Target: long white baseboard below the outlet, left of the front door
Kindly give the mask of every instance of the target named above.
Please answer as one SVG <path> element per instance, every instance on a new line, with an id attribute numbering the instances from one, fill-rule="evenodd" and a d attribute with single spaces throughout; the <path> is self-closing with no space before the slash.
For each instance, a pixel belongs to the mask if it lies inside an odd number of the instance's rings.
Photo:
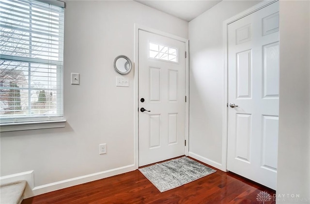
<path id="1" fill-rule="evenodd" d="M 90 175 L 83 175 L 83 176 L 70 178 L 70 179 L 63 180 L 63 181 L 58 181 L 55 183 L 37 186 L 34 189 L 32 189 L 32 196 L 40 195 L 40 194 L 51 192 L 54 190 L 76 186 L 76 185 L 83 184 L 83 183 L 88 183 L 88 182 L 99 180 L 102 178 L 107 178 L 113 175 L 124 174 L 126 172 L 131 172 L 136 169 L 137 167 L 135 166 L 135 164 L 131 164 L 131 165 L 127 165 L 127 166 L 123 166 L 123 167 L 119 167 L 115 169 L 110 169 L 110 170 L 103 171 L 103 172 L 98 172 L 98 173 L 94 173 Z"/>

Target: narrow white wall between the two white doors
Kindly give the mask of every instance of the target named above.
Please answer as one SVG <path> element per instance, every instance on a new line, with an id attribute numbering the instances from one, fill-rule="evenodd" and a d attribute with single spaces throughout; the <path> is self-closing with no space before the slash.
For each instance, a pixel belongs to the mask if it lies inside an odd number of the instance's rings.
<path id="1" fill-rule="evenodd" d="M 221 1 L 189 22 L 189 155 L 222 170 L 223 21 L 258 2 Z"/>

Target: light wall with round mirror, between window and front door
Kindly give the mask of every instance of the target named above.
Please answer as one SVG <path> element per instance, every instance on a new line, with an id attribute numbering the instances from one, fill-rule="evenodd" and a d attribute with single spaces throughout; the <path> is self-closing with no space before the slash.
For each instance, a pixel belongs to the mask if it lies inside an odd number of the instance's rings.
<path id="1" fill-rule="evenodd" d="M 118 55 L 134 59 L 134 23 L 188 38 L 186 21 L 135 1 L 67 1 L 66 127 L 2 132 L 1 176 L 34 170 L 39 194 L 135 169 L 135 71 L 126 75 L 130 87 L 116 87 L 113 68 Z M 80 73 L 79 86 L 70 85 L 70 73 Z M 106 155 L 98 154 L 101 143 Z"/>

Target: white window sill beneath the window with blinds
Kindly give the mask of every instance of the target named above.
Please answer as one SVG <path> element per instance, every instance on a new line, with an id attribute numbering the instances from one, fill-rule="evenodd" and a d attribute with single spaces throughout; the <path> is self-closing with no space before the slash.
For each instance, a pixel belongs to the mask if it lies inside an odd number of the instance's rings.
<path id="1" fill-rule="evenodd" d="M 4 123 L 0 125 L 0 132 L 7 131 L 26 131 L 47 128 L 64 128 L 66 120 L 51 120 L 51 121 L 35 121 L 35 122 L 19 122 L 19 123 Z"/>

